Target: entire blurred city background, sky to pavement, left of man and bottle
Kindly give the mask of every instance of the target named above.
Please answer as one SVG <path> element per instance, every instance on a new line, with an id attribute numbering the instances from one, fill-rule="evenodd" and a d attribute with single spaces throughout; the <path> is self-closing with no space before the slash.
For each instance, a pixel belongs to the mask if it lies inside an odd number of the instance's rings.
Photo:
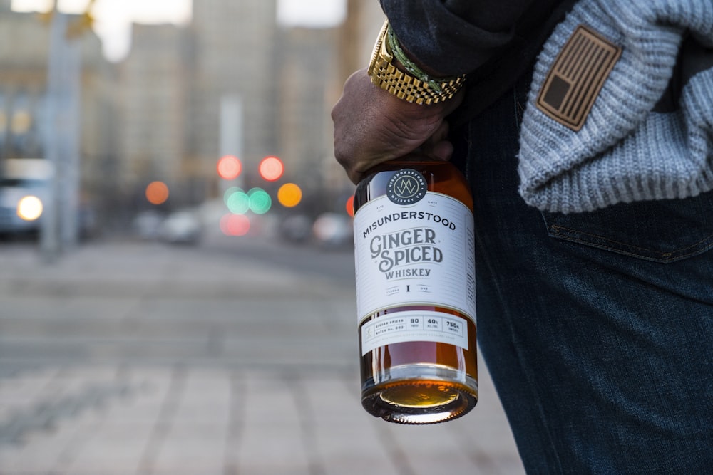
<path id="1" fill-rule="evenodd" d="M 462 419 L 361 408 L 329 111 L 383 23 L 0 0 L 0 475 L 523 474 L 482 361 Z"/>

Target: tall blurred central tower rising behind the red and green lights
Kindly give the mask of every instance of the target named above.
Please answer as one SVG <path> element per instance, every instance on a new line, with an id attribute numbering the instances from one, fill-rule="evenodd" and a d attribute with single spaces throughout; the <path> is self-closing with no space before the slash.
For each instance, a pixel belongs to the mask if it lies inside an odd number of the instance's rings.
<path id="1" fill-rule="evenodd" d="M 274 0 L 193 1 L 187 152 L 208 194 L 220 155 L 250 174 L 278 153 L 275 15 Z"/>

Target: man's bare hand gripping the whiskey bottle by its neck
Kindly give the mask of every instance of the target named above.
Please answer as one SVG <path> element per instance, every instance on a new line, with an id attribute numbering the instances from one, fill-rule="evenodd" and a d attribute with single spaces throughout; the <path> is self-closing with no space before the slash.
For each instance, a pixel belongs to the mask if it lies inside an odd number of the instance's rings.
<path id="1" fill-rule="evenodd" d="M 355 184 L 375 165 L 415 150 L 445 162 L 453 153 L 445 118 L 462 100 L 461 93 L 434 105 L 408 103 L 372 84 L 366 69 L 356 71 L 332 109 L 334 156 Z"/>

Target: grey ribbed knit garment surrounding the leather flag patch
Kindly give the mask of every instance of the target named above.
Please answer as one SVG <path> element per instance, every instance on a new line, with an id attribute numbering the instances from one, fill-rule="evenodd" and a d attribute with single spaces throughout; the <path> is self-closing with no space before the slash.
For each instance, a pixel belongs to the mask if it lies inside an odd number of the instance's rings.
<path id="1" fill-rule="evenodd" d="M 575 130 L 546 113 L 538 98 L 580 25 L 618 46 L 620 56 Z M 688 34 L 704 57 L 713 58 L 713 0 L 578 2 L 535 67 L 520 132 L 525 202 L 572 213 L 713 189 L 713 61 L 687 80 L 676 110 L 653 112 L 680 66 L 677 56 Z M 556 80 L 561 90 L 574 90 Z"/>

